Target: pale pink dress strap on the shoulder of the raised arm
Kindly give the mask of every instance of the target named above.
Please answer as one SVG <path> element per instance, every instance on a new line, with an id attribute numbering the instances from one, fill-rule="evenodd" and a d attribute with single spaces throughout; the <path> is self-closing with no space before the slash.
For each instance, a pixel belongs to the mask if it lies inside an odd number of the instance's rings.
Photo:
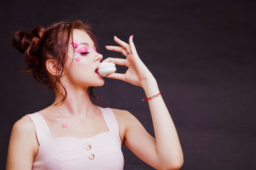
<path id="1" fill-rule="evenodd" d="M 100 108 L 100 111 L 102 112 L 102 115 L 104 117 L 106 125 L 108 126 L 109 131 L 119 136 L 118 122 L 111 108 L 101 108 L 101 107 L 99 108 Z"/>

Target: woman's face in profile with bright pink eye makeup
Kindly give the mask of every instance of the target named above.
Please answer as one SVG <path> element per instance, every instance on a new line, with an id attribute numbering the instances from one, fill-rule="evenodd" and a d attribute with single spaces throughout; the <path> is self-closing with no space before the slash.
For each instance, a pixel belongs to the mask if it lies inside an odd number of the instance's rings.
<path id="1" fill-rule="evenodd" d="M 97 53 L 92 39 L 81 29 L 73 30 L 73 38 L 72 43 L 70 36 L 64 76 L 69 83 L 81 87 L 104 85 L 103 77 L 95 72 L 100 60 L 102 60 L 102 55 Z"/>

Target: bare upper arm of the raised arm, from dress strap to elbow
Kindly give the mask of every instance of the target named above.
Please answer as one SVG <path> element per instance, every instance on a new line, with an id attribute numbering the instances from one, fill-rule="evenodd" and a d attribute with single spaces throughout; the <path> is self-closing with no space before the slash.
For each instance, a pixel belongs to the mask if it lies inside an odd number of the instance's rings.
<path id="1" fill-rule="evenodd" d="M 148 165 L 158 169 L 159 159 L 156 153 L 156 139 L 148 134 L 140 121 L 129 111 L 123 111 L 125 117 L 124 145 L 134 155 Z"/>

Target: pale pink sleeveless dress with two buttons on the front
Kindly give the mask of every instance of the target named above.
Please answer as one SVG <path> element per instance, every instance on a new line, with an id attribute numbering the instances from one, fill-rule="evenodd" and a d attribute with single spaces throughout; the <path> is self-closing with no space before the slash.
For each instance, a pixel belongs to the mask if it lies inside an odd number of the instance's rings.
<path id="1" fill-rule="evenodd" d="M 44 117 L 39 113 L 28 114 L 35 124 L 38 153 L 32 169 L 124 169 L 119 127 L 111 108 L 100 108 L 109 131 L 91 138 L 52 138 Z"/>

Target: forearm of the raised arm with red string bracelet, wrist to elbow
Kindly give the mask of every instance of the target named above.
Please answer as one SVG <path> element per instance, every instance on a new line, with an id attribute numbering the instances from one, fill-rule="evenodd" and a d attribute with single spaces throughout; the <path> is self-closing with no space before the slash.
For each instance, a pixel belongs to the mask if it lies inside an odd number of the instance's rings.
<path id="1" fill-rule="evenodd" d="M 155 78 L 150 78 L 144 82 L 142 88 L 147 98 L 160 92 Z M 156 152 L 159 160 L 163 161 L 165 165 L 171 164 L 170 166 L 173 167 L 182 166 L 183 153 L 179 137 L 170 113 L 164 104 L 163 97 L 159 95 L 149 99 L 148 105 L 154 125 Z"/>

